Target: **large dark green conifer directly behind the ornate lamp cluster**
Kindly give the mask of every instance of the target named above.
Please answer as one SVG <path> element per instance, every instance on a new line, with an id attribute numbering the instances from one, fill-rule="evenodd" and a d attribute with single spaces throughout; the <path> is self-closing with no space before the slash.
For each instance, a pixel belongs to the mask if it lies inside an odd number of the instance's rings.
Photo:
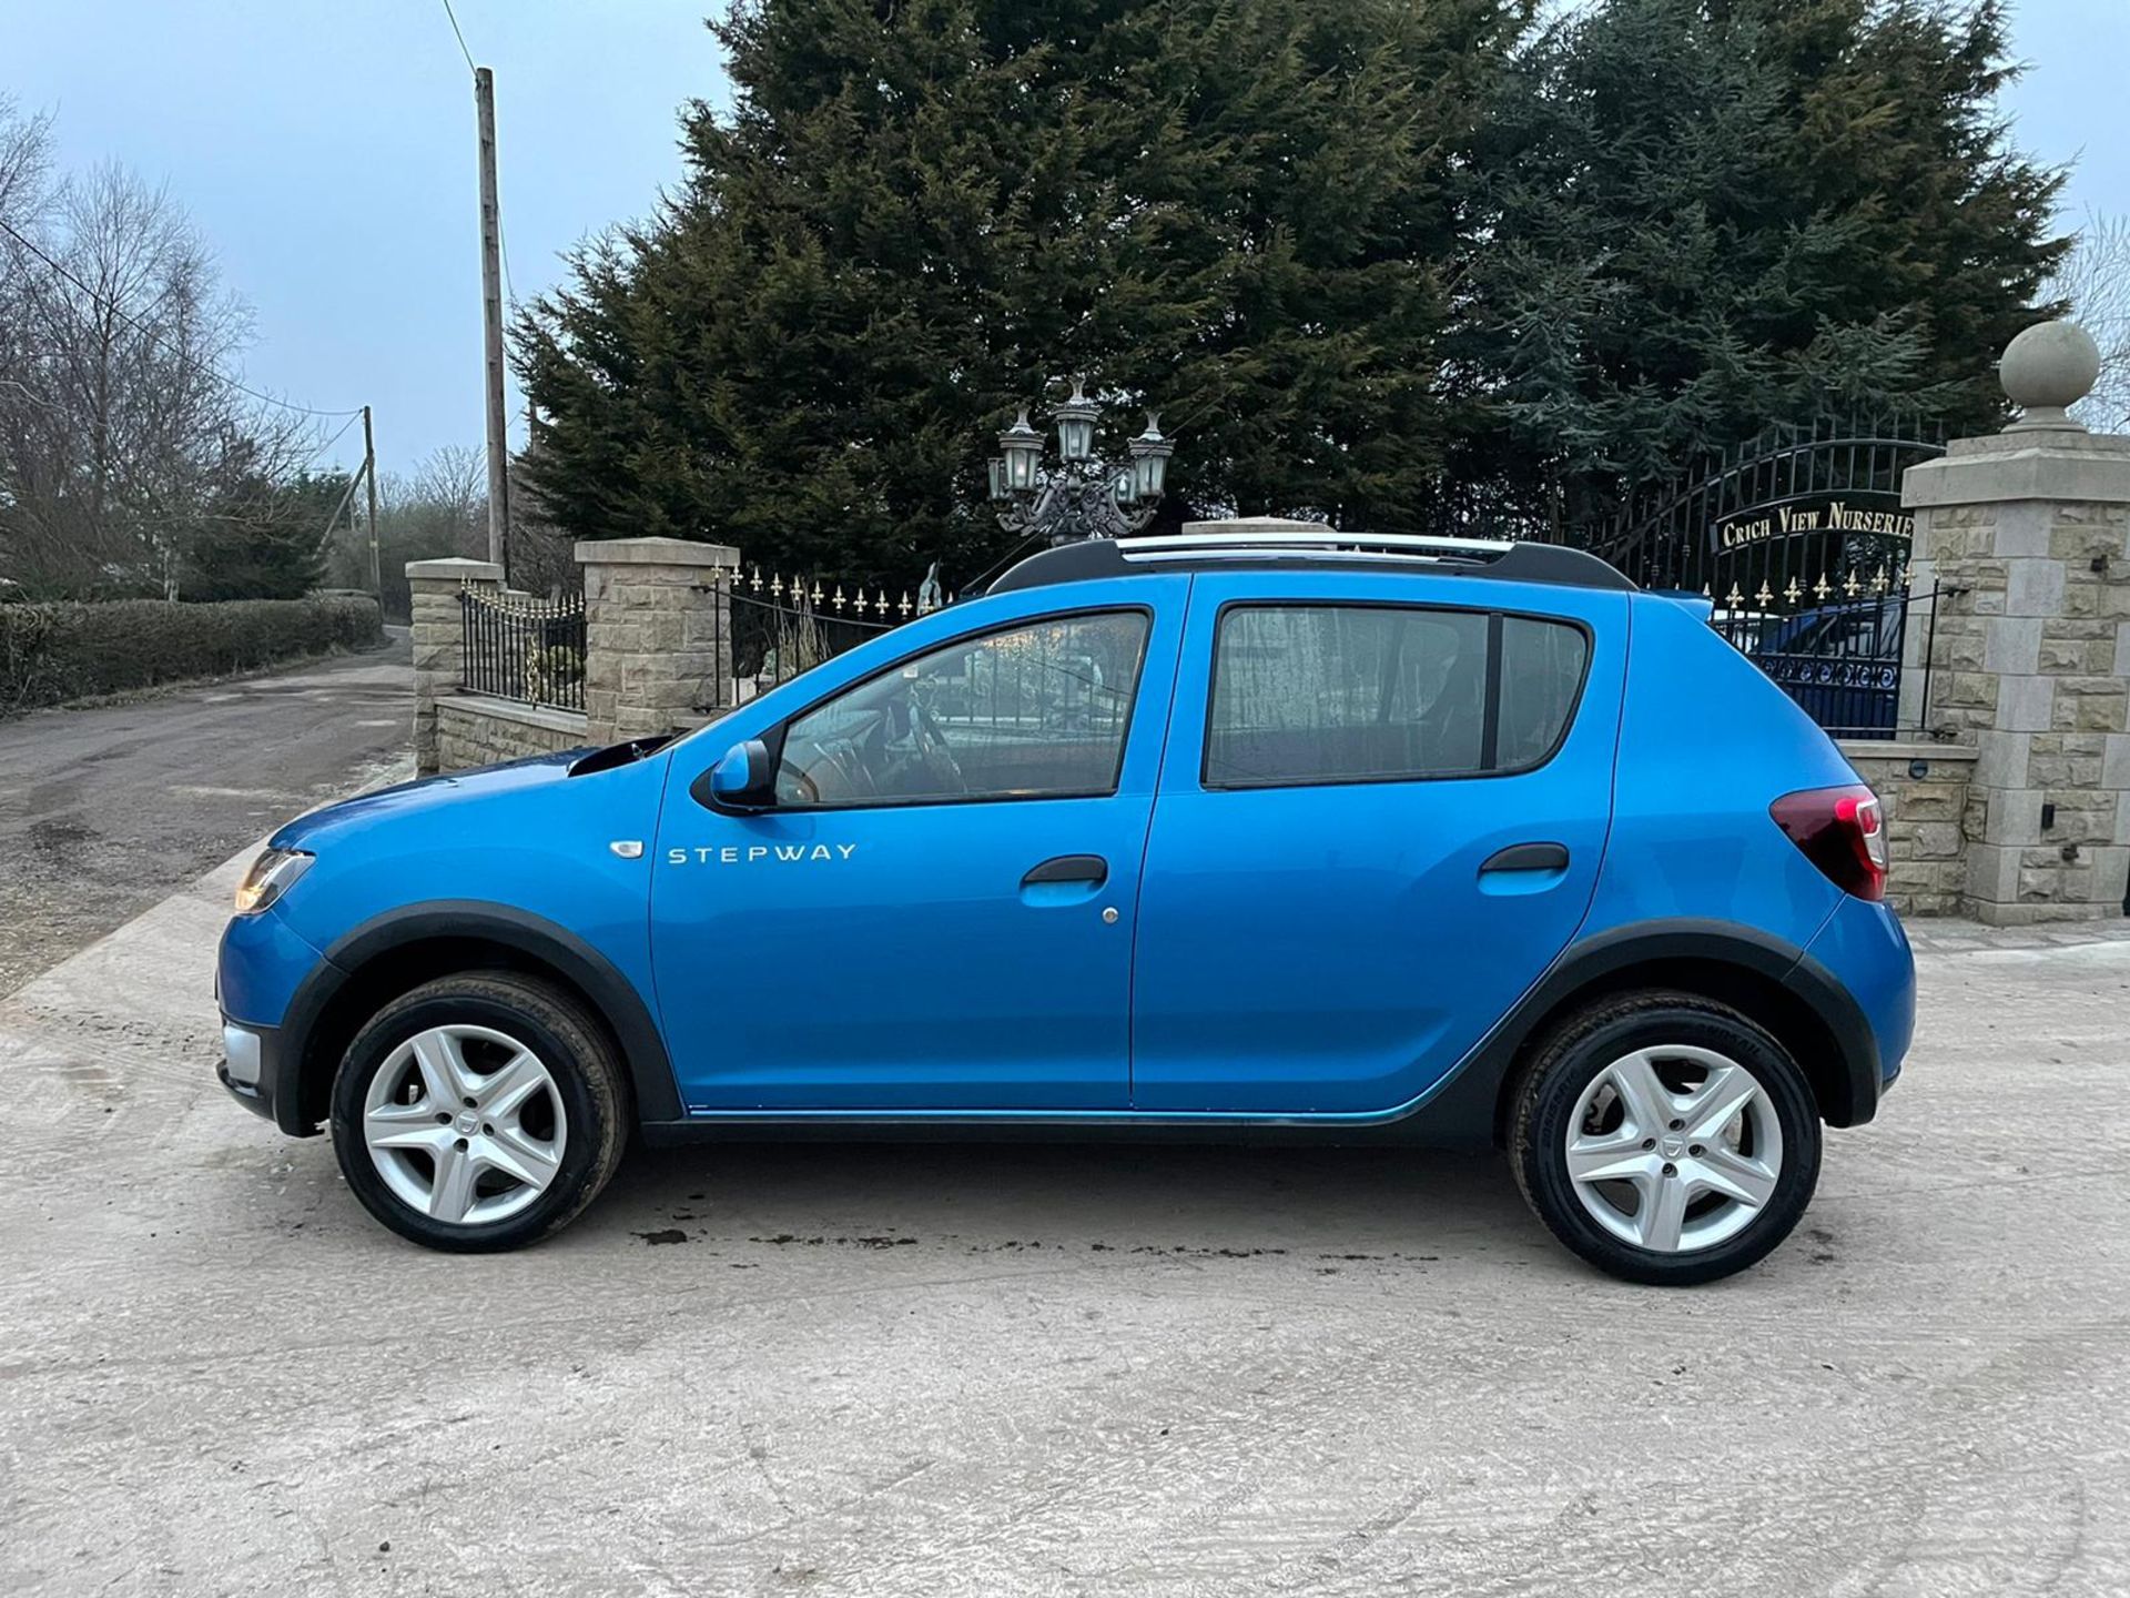
<path id="1" fill-rule="evenodd" d="M 1069 375 L 1159 405 L 1193 503 L 1389 526 L 1425 496 L 1463 153 L 1521 0 L 714 26 L 735 113 L 692 107 L 682 192 L 518 326 L 562 524 L 967 575 L 999 537 L 988 433 Z"/>

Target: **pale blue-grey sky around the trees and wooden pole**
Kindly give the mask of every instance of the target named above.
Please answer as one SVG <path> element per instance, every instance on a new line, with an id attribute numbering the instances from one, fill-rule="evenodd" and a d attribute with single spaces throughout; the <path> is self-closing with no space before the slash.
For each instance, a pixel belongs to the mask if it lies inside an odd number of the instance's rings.
<path id="1" fill-rule="evenodd" d="M 452 4 L 496 72 L 509 279 L 530 298 L 679 177 L 686 100 L 728 104 L 709 6 Z M 2015 0 L 2013 47 L 2017 143 L 2075 164 L 2064 219 L 2130 213 L 2130 0 Z M 245 381 L 375 407 L 381 471 L 481 443 L 473 77 L 443 0 L 0 0 L 0 94 L 55 113 L 62 170 L 117 160 L 185 205 L 251 305 Z M 511 415 L 522 441 L 515 386 Z M 320 462 L 360 456 L 351 428 Z"/>

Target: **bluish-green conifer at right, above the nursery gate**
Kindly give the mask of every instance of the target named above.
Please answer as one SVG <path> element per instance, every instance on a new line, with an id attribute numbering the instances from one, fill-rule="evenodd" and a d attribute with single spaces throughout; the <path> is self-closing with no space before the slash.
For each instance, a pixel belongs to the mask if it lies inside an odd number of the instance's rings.
<path id="1" fill-rule="evenodd" d="M 1606 0 L 1519 53 L 1472 347 L 1568 513 L 1817 411 L 1992 426 L 2062 245 L 1996 0 Z"/>

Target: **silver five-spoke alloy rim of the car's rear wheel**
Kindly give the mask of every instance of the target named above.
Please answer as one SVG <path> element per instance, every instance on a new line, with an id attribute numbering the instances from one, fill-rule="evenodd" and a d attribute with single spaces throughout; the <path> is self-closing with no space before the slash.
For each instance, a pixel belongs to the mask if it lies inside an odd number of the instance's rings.
<path id="1" fill-rule="evenodd" d="M 1768 1089 L 1713 1048 L 1638 1048 L 1583 1089 L 1568 1178 L 1598 1225 L 1661 1255 L 1713 1249 L 1774 1197 L 1783 1127 Z"/>

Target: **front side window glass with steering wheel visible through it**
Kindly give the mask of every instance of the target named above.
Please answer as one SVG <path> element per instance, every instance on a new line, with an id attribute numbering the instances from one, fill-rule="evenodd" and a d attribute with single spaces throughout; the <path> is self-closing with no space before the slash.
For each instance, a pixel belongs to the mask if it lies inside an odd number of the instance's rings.
<path id="1" fill-rule="evenodd" d="M 869 678 L 790 724 L 777 803 L 1114 793 L 1146 629 L 1135 609 L 1059 616 Z"/>

